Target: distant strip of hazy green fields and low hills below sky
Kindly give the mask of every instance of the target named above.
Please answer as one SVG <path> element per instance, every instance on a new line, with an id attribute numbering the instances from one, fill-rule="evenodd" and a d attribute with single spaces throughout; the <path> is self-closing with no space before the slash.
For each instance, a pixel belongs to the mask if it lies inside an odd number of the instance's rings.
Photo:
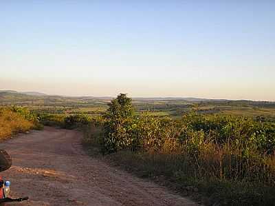
<path id="1" fill-rule="evenodd" d="M 0 90 L 0 106 L 18 105 L 34 112 L 50 114 L 100 115 L 108 108 L 112 97 L 52 96 L 39 92 L 16 92 Z M 275 121 L 275 102 L 231 101 L 225 99 L 196 98 L 133 98 L 137 115 L 148 112 L 153 116 L 180 118 L 184 113 L 196 109 L 203 114 L 232 114 Z"/>

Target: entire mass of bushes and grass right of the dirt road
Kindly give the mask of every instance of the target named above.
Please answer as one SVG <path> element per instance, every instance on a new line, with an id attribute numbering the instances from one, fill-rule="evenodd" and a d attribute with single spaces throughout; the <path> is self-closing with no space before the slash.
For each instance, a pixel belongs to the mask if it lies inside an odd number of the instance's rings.
<path id="1" fill-rule="evenodd" d="M 109 103 L 103 117 L 97 142 L 126 167 L 195 185 L 220 205 L 274 203 L 274 123 L 196 111 L 181 119 L 135 116 L 125 94 Z"/>

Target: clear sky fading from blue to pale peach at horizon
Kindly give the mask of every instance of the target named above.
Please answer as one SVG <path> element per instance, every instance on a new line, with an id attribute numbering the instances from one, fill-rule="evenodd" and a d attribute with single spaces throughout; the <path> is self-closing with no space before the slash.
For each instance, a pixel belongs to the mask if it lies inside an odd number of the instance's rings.
<path id="1" fill-rule="evenodd" d="M 0 90 L 275 101 L 275 1 L 0 1 Z"/>

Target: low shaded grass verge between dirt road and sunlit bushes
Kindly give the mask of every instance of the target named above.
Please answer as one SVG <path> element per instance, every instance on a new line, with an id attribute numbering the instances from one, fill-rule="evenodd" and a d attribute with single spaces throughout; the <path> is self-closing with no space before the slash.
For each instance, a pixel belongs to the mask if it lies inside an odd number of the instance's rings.
<path id="1" fill-rule="evenodd" d="M 192 171 L 192 162 L 179 154 L 119 151 L 102 156 L 101 127 L 85 129 L 83 145 L 91 156 L 100 156 L 107 163 L 120 167 L 141 178 L 164 185 L 182 196 L 204 205 L 274 205 L 275 188 L 217 178 L 199 178 Z"/>

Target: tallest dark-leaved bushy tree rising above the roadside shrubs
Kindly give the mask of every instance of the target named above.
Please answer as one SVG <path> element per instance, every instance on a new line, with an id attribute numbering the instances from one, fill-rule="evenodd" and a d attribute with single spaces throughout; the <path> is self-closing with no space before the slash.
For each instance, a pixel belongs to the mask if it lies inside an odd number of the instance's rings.
<path id="1" fill-rule="evenodd" d="M 133 142 L 131 137 L 132 100 L 126 94 L 120 94 L 108 105 L 109 109 L 104 116 L 103 153 L 127 149 L 131 147 Z"/>

